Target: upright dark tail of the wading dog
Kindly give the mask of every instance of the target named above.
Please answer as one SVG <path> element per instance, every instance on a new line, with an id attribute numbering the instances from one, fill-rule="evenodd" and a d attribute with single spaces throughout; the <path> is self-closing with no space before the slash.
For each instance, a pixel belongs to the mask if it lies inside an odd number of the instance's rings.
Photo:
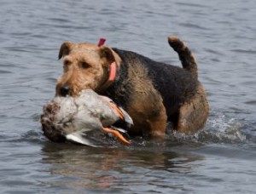
<path id="1" fill-rule="evenodd" d="M 183 69 L 189 71 L 197 79 L 197 64 L 195 57 L 189 48 L 178 37 L 168 37 L 168 43 L 177 52 L 179 60 L 182 62 Z"/>

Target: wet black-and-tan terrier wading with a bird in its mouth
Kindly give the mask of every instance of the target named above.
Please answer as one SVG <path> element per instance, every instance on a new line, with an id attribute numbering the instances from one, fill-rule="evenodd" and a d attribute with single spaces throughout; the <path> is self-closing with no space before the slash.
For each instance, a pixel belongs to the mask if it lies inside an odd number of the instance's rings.
<path id="1" fill-rule="evenodd" d="M 207 94 L 189 48 L 174 36 L 168 37 L 168 43 L 183 68 L 118 48 L 63 43 L 59 59 L 64 74 L 56 84 L 56 95 L 75 96 L 84 88 L 107 95 L 132 117 L 130 134 L 163 137 L 167 122 L 178 132 L 196 132 L 207 121 Z"/>

